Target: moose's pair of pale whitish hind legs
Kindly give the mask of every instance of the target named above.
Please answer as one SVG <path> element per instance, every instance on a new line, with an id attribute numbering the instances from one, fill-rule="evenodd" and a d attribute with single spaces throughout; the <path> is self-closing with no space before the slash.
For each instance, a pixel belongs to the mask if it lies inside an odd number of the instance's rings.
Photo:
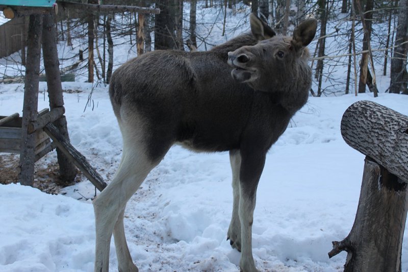
<path id="1" fill-rule="evenodd" d="M 108 272 L 112 233 L 115 235 L 119 271 L 137 271 L 125 243 L 123 211 L 127 201 L 156 163 L 149 160 L 143 144 L 126 141 L 119 168 L 111 183 L 93 201 L 96 226 L 95 271 Z M 163 155 L 164 156 L 164 155 Z"/>

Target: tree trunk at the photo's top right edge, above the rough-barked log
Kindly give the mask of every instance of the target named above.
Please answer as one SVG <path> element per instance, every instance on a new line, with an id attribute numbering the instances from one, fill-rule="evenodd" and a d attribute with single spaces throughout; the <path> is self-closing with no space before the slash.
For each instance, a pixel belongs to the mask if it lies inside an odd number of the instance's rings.
<path id="1" fill-rule="evenodd" d="M 408 0 L 399 1 L 398 26 L 394 42 L 394 55 L 391 59 L 391 81 L 390 93 L 406 92 L 406 81 L 404 81 L 404 71 L 406 67 L 406 45 L 408 31 Z M 405 43 L 405 44 L 403 44 Z"/>

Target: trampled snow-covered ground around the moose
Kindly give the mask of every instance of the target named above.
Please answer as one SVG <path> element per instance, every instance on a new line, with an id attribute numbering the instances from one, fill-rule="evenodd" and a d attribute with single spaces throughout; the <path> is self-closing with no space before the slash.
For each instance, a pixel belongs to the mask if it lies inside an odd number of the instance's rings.
<path id="1" fill-rule="evenodd" d="M 94 89 L 93 109 L 86 107 L 90 84 L 63 88 L 82 91 L 64 93 L 71 142 L 109 182 L 122 140 L 107 88 Z M 43 96 L 39 109 L 48 104 Z M 364 156 L 340 135 L 344 110 L 358 100 L 408 115 L 406 95 L 310 97 L 272 146 L 253 224 L 253 254 L 262 271 L 342 270 L 346 254 L 328 259 L 327 253 L 331 241 L 350 231 L 359 200 Z M 19 111 L 22 101 L 22 85 L 0 85 L 0 115 Z M 39 163 L 55 160 L 53 152 Z M 0 185 L 0 271 L 92 271 L 94 187 L 84 179 L 63 192 Z M 135 263 L 140 271 L 238 271 L 240 253 L 226 241 L 231 211 L 228 154 L 174 146 L 127 205 L 125 230 Z M 407 250 L 405 237 L 404 271 Z M 110 261 L 116 271 L 113 242 Z"/>

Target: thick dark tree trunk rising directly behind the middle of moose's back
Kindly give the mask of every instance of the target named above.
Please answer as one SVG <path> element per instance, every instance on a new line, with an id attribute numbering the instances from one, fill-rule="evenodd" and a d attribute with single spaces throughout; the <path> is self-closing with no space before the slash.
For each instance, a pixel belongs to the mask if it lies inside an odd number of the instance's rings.
<path id="1" fill-rule="evenodd" d="M 156 8 L 160 14 L 155 16 L 155 50 L 175 48 L 174 38 L 174 5 L 173 0 L 159 0 Z"/>

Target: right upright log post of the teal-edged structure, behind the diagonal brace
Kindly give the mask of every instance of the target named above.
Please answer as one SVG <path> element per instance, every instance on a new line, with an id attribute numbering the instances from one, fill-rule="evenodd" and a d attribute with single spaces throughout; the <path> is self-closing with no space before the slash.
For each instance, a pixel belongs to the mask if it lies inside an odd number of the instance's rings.
<path id="1" fill-rule="evenodd" d="M 64 98 L 62 94 L 60 62 L 57 53 L 57 31 L 54 24 L 54 15 L 43 15 L 43 31 L 42 31 L 42 52 L 44 56 L 44 68 L 47 78 L 47 90 L 49 97 L 49 108 L 51 112 L 57 109 L 63 109 Z M 57 115 L 63 114 L 58 112 Z M 69 141 L 67 121 L 65 116 L 54 121 L 54 125 L 59 129 L 65 139 Z M 60 181 L 63 184 L 70 184 L 77 176 L 77 169 L 73 163 L 57 149 L 58 164 L 60 166 Z"/>

